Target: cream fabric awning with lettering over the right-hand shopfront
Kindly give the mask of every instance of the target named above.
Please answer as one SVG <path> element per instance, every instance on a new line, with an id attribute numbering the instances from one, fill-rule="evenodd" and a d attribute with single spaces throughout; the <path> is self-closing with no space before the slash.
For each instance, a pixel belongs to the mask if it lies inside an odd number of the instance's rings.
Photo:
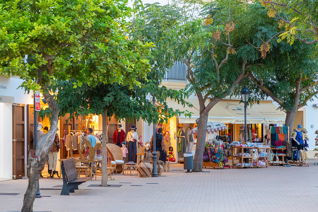
<path id="1" fill-rule="evenodd" d="M 174 110 L 188 110 L 193 113 L 191 114 L 191 118 L 183 115 L 179 116 L 179 123 L 196 123 L 196 119 L 200 117 L 199 102 L 196 98 L 189 98 L 186 101 L 193 104 L 193 107 L 183 107 L 178 102 L 170 99 L 167 99 L 167 104 Z M 244 104 L 239 102 L 239 100 L 221 100 L 210 110 L 208 121 L 244 124 Z M 252 105 L 252 108 L 251 106 L 247 106 L 246 117 L 247 124 L 284 124 L 286 113 L 277 110 L 277 107 L 271 101 L 259 101 L 259 104 Z"/>

